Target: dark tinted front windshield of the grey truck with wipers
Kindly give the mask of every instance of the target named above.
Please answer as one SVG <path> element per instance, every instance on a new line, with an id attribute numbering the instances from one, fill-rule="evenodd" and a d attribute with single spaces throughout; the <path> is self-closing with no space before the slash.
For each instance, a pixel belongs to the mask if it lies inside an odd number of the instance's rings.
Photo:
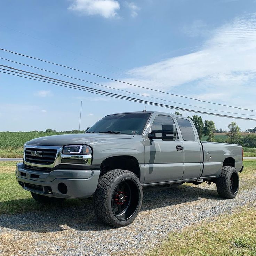
<path id="1" fill-rule="evenodd" d="M 99 120 L 86 133 L 142 134 L 150 113 L 127 113 L 107 115 Z"/>

